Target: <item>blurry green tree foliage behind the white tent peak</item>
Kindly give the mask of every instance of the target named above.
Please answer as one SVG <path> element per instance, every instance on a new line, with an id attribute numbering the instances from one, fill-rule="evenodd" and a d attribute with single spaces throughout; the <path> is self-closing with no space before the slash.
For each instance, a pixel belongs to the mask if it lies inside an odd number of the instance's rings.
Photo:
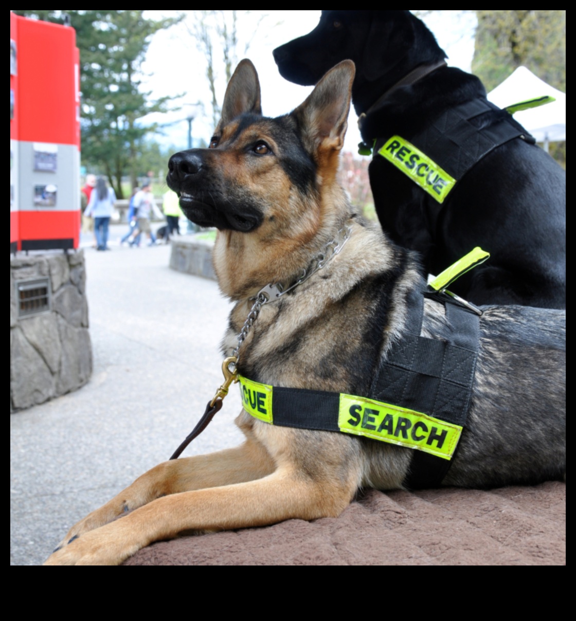
<path id="1" fill-rule="evenodd" d="M 519 66 L 566 92 L 566 11 L 476 11 L 478 28 L 472 73 L 487 91 Z M 551 155 L 566 167 L 566 143 Z"/>

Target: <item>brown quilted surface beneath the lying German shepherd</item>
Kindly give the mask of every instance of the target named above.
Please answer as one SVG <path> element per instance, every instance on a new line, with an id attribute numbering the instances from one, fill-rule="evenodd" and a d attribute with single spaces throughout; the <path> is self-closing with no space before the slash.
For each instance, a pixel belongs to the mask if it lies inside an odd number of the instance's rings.
<path id="1" fill-rule="evenodd" d="M 126 565 L 564 565 L 566 485 L 367 490 L 336 519 L 158 542 Z"/>

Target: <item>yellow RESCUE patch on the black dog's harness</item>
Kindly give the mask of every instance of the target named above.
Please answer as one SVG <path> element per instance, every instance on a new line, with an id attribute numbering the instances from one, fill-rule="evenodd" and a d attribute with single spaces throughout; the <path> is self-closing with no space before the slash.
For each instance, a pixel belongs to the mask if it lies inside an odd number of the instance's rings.
<path id="1" fill-rule="evenodd" d="M 378 151 L 438 202 L 444 202 L 456 179 L 408 140 L 393 136 Z"/>

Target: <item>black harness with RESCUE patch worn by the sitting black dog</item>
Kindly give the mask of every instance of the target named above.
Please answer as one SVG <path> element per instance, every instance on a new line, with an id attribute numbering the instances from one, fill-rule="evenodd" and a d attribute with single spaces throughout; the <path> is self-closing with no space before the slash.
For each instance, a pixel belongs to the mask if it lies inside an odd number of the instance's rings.
<path id="1" fill-rule="evenodd" d="M 547 101 L 534 100 L 531 105 L 524 102 L 524 107 L 544 102 Z M 496 122 L 488 127 L 478 127 L 475 119 L 487 112 L 497 112 Z M 374 155 L 378 154 L 388 160 L 437 202 L 442 203 L 455 184 L 478 161 L 514 138 L 521 138 L 531 144 L 536 142 L 514 120 L 508 109 L 502 110 L 485 97 L 478 97 L 447 109 L 419 134 L 377 138 Z"/>

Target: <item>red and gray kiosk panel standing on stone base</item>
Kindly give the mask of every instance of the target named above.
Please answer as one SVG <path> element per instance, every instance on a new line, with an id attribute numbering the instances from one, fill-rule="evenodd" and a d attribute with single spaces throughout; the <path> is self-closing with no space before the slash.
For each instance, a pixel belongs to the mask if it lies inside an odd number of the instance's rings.
<path id="1" fill-rule="evenodd" d="M 10 251 L 78 248 L 76 32 L 10 14 Z"/>

